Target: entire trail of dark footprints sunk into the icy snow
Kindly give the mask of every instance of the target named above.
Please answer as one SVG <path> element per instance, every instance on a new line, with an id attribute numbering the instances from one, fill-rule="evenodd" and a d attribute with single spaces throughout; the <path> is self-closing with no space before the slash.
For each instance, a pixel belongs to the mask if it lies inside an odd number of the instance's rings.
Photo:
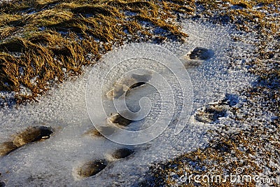
<path id="1" fill-rule="evenodd" d="M 205 48 L 195 48 L 193 52 L 190 53 L 188 56 L 190 60 L 208 60 L 213 55 L 214 54 L 211 52 L 211 50 L 207 50 Z M 122 83 L 116 83 L 114 89 L 106 93 L 106 97 L 110 100 L 118 99 L 123 95 L 129 94 L 130 90 L 145 85 L 149 80 L 151 80 L 151 78 L 152 78 L 151 74 L 143 74 L 143 75 L 132 74 L 130 78 L 123 81 Z M 214 118 L 216 119 L 215 116 L 213 117 L 213 119 L 210 118 L 210 121 L 214 120 Z M 203 122 L 209 122 L 208 121 L 209 118 L 206 118 L 205 120 L 200 113 L 197 113 L 196 119 Z M 113 113 L 107 119 L 107 122 L 108 122 L 107 126 L 102 126 L 99 128 L 99 130 L 90 129 L 87 132 L 85 132 L 85 134 L 83 135 L 92 138 L 101 138 L 103 137 L 102 134 L 106 136 L 116 132 L 117 128 L 113 125 L 117 125 L 118 127 L 125 128 L 127 127 L 127 125 L 133 123 L 133 120 L 124 118 L 119 113 Z M 113 123 L 113 125 L 110 125 L 110 123 Z M 43 125 L 27 127 L 26 130 L 14 134 L 10 141 L 6 141 L 0 144 L 0 156 L 8 155 L 9 153 L 27 144 L 49 139 L 54 131 L 55 130 L 52 127 L 47 127 Z M 99 160 L 89 160 L 87 162 L 84 162 L 82 165 L 80 165 L 75 169 L 76 174 L 78 174 L 78 176 L 80 176 L 81 178 L 94 176 L 95 174 L 98 174 L 103 169 L 105 169 L 110 164 L 110 162 L 128 158 L 133 153 L 134 153 L 134 149 L 126 148 L 126 147 L 120 148 L 114 151 L 113 153 L 111 153 L 111 158 L 113 158 L 112 160 L 99 159 Z M 6 183 L 0 181 L 0 187 L 3 186 L 6 186 Z"/>

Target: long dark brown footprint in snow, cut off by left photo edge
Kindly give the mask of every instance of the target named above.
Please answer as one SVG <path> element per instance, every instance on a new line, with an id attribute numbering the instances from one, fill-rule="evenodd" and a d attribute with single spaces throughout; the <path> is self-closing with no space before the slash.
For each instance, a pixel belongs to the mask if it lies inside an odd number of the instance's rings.
<path id="1" fill-rule="evenodd" d="M 13 141 L 6 141 L 0 144 L 0 155 L 8 155 L 8 153 L 24 146 L 25 144 L 48 139 L 52 133 L 51 127 L 41 125 L 28 127 L 23 132 L 13 135 Z"/>

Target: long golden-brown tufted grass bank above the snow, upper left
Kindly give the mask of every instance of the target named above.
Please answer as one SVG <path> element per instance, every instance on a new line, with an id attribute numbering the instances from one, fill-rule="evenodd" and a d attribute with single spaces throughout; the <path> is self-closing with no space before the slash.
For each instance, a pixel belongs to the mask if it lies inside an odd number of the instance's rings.
<path id="1" fill-rule="evenodd" d="M 193 0 L 14 0 L 2 4 L 0 91 L 14 91 L 22 103 L 36 99 L 53 83 L 80 74 L 84 65 L 125 40 L 181 40 L 187 35 L 167 20 L 176 20 L 177 12 L 190 15 L 193 6 Z M 156 27 L 165 32 L 155 33 Z M 22 88 L 30 93 L 20 93 Z"/>

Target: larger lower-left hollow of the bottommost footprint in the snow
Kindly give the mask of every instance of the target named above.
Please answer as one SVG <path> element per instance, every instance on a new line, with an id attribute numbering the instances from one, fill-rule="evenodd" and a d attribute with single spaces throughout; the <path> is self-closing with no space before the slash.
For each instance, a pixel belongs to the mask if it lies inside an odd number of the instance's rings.
<path id="1" fill-rule="evenodd" d="M 78 175 L 82 177 L 94 176 L 107 166 L 106 160 L 94 160 L 86 162 L 78 169 Z"/>

